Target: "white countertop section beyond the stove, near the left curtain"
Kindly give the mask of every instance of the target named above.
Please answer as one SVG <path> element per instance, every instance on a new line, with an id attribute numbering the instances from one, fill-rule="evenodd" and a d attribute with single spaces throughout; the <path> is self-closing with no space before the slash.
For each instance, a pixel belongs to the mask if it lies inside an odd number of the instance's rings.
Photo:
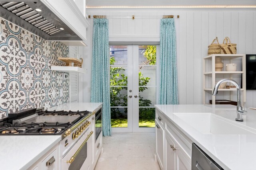
<path id="1" fill-rule="evenodd" d="M 64 110 L 64 111 L 94 111 L 98 107 L 101 107 L 102 103 L 67 103 L 67 104 L 62 104 L 60 106 L 52 107 L 50 110 Z"/>

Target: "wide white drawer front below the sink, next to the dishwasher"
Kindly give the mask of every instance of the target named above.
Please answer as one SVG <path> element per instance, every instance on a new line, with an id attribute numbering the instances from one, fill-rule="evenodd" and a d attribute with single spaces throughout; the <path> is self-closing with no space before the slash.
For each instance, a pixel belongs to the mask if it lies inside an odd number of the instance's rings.
<path id="1" fill-rule="evenodd" d="M 181 149 L 187 154 L 187 156 L 191 159 L 192 154 L 192 141 L 188 141 L 179 131 L 177 131 L 173 125 L 166 122 L 166 133 L 170 135 L 174 142 L 180 145 Z"/>

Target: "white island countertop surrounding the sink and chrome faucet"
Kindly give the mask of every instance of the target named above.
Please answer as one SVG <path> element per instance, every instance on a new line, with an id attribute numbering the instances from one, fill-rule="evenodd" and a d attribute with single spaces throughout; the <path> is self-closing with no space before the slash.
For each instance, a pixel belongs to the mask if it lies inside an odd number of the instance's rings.
<path id="1" fill-rule="evenodd" d="M 256 111 L 247 109 L 244 121 L 235 121 L 236 106 L 232 105 L 156 105 L 168 121 L 171 121 L 198 147 L 225 170 L 256 169 L 256 134 L 204 134 L 188 125 L 173 113 L 214 113 L 239 127 L 256 133 Z"/>

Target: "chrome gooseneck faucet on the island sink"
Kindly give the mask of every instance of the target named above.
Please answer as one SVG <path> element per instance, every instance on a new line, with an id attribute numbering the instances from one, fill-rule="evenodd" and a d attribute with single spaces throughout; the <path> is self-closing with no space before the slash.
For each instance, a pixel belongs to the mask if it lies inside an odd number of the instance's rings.
<path id="1" fill-rule="evenodd" d="M 216 96 L 216 94 L 218 93 L 218 88 L 220 86 L 221 83 L 223 82 L 230 82 L 232 84 L 234 84 L 236 86 L 236 90 L 237 90 L 237 106 L 236 106 L 236 121 L 244 121 L 244 119 L 242 119 L 242 115 L 244 115 L 245 110 L 245 102 L 244 102 L 244 109 L 242 108 L 241 105 L 241 88 L 240 86 L 237 84 L 237 82 L 235 80 L 231 80 L 231 79 L 222 79 L 219 82 L 217 82 L 214 86 L 214 90 L 212 92 L 212 95 Z"/>

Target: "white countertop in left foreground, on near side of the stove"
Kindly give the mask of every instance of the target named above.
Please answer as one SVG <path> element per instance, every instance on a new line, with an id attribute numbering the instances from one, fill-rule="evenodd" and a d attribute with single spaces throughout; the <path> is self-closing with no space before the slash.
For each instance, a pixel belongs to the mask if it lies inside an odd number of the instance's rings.
<path id="1" fill-rule="evenodd" d="M 0 136 L 0 169 L 26 170 L 61 140 L 61 135 Z"/>

